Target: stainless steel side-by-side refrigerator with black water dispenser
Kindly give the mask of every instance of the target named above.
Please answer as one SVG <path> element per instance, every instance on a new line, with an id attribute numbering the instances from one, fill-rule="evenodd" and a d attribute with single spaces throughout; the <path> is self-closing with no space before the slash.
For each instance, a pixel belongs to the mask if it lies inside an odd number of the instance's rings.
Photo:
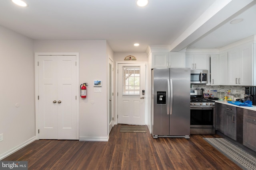
<path id="1" fill-rule="evenodd" d="M 190 68 L 152 69 L 151 133 L 190 138 Z"/>

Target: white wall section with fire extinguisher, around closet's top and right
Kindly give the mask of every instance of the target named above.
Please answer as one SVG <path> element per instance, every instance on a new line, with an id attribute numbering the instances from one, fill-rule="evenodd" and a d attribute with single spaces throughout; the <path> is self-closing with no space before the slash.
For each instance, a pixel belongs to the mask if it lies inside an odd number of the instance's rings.
<path id="1" fill-rule="evenodd" d="M 106 40 L 36 40 L 35 53 L 79 53 L 79 84 L 88 83 L 87 97 L 79 97 L 79 139 L 107 141 Z M 102 80 L 102 92 L 94 92 L 93 81 Z"/>

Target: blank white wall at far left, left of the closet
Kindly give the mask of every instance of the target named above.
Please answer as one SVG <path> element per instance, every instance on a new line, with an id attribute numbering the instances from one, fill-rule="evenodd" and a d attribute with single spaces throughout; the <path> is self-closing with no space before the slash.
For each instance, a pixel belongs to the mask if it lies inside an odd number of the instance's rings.
<path id="1" fill-rule="evenodd" d="M 35 140 L 33 40 L 0 26 L 0 160 Z"/>

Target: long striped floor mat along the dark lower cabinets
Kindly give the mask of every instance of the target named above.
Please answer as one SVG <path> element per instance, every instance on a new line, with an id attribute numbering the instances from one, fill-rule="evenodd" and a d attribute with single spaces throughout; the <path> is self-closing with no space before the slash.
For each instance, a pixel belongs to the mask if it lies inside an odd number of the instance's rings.
<path id="1" fill-rule="evenodd" d="M 225 138 L 203 138 L 244 170 L 256 170 L 256 157 Z"/>

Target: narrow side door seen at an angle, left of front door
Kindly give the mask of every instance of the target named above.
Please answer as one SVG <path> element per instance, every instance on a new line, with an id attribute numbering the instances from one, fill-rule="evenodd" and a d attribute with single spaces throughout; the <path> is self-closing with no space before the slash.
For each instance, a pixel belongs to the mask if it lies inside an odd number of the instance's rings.
<path id="1" fill-rule="evenodd" d="M 113 106 L 113 92 L 114 92 L 114 67 L 113 61 L 108 59 L 108 134 L 114 126 L 114 106 Z"/>

